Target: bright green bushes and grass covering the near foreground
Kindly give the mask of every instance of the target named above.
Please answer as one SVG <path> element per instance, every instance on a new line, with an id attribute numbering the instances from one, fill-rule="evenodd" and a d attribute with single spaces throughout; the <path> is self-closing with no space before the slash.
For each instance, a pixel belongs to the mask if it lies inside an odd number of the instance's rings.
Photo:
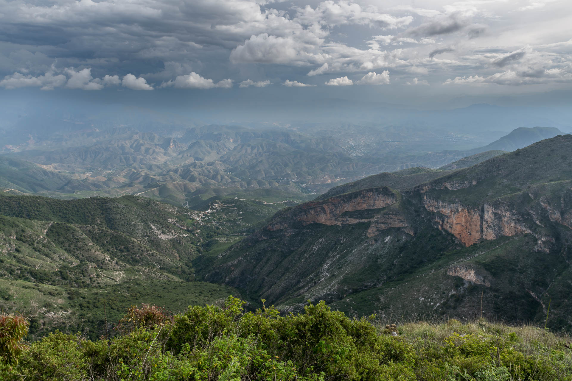
<path id="1" fill-rule="evenodd" d="M 324 302 L 288 315 L 245 312 L 232 296 L 175 316 L 132 307 L 109 339 L 55 332 L 25 347 L 7 320 L 2 380 L 572 380 L 565 335 L 484 320 L 393 328 Z"/>

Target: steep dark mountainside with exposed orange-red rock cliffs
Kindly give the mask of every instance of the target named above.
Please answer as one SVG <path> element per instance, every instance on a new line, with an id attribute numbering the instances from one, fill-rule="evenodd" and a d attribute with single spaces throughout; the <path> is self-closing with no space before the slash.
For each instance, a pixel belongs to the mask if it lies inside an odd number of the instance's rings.
<path id="1" fill-rule="evenodd" d="M 490 318 L 541 320 L 561 295 L 551 319 L 570 326 L 572 135 L 442 174 L 281 211 L 200 273 L 286 309 L 468 317 L 482 293 Z"/>

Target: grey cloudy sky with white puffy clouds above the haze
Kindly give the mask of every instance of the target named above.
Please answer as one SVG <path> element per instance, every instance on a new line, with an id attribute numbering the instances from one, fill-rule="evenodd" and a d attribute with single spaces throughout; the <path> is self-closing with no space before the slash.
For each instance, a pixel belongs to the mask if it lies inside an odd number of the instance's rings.
<path id="1" fill-rule="evenodd" d="M 570 90 L 572 2 L 0 0 L 0 91 L 24 87 L 384 101 Z"/>

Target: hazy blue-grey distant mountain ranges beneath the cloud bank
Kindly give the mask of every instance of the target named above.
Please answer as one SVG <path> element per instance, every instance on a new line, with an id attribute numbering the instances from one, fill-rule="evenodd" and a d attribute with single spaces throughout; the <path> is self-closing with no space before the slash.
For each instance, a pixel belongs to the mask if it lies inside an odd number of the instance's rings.
<path id="1" fill-rule="evenodd" d="M 472 149 L 478 143 L 474 137 L 407 126 L 208 125 L 170 136 L 129 126 L 64 129 L 47 137 L 31 135 L 22 145 L 5 148 L 6 154 L 0 155 L 0 187 L 58 198 L 145 195 L 177 206 L 200 203 L 205 192 L 248 198 L 241 194 L 260 189 L 287 194 L 276 201 L 308 200 L 372 174 L 436 169 L 490 146 L 512 149 L 557 133 L 543 127 L 517 129 L 489 146 Z M 455 167 L 486 158 L 475 156 Z M 427 181 L 431 176 L 403 181 Z"/>

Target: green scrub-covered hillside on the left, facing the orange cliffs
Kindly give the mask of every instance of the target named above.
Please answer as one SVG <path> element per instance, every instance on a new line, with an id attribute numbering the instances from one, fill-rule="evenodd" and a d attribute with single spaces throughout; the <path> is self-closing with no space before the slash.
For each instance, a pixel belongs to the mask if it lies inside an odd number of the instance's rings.
<path id="1" fill-rule="evenodd" d="M 196 212 L 144 197 L 2 195 L 0 308 L 25 312 L 34 335 L 75 327 L 97 337 L 104 307 L 114 319 L 132 303 L 176 311 L 236 294 L 194 281 L 192 260 L 217 231 Z"/>

